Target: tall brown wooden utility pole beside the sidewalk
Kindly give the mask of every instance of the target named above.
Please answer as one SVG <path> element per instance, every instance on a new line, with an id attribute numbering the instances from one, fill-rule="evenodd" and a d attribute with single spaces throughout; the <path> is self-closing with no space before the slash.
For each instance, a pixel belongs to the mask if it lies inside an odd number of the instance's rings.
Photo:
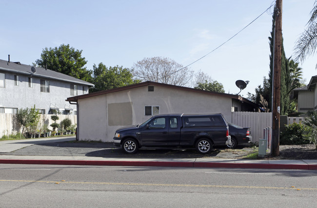
<path id="1" fill-rule="evenodd" d="M 281 58 L 282 58 L 282 0 L 276 0 L 276 20 L 274 36 L 274 66 L 273 66 L 273 109 L 272 109 L 272 154 L 279 155 L 279 115 L 281 91 Z"/>

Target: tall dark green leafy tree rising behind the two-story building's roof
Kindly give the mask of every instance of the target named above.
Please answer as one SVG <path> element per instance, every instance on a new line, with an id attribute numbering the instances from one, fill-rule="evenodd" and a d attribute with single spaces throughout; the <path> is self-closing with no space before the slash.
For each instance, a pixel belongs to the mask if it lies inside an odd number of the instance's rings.
<path id="1" fill-rule="evenodd" d="M 87 61 L 85 57 L 81 57 L 81 52 L 82 50 L 75 50 L 69 44 L 61 44 L 55 48 L 44 48 L 41 58 L 37 59 L 35 63 L 42 68 L 47 66 L 47 69 L 90 81 L 91 71 L 84 67 Z"/>

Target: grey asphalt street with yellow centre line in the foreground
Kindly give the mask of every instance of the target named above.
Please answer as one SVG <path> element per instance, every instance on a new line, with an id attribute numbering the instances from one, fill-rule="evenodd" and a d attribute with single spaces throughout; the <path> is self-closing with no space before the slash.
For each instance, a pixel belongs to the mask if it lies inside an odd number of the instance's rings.
<path id="1" fill-rule="evenodd" d="M 0 166 L 1 207 L 316 207 L 317 170 Z"/>

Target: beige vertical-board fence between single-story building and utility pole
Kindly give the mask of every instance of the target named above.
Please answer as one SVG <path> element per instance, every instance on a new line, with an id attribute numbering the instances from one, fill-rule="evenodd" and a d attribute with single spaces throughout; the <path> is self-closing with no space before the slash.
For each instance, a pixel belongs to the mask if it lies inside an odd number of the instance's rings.
<path id="1" fill-rule="evenodd" d="M 264 138 L 263 129 L 272 127 L 272 113 L 232 112 L 231 123 L 250 127 L 252 142 L 258 142 Z"/>

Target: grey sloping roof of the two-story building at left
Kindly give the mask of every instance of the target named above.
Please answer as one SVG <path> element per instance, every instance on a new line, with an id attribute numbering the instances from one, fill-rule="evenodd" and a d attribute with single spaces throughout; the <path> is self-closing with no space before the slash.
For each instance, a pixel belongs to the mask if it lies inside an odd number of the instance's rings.
<path id="1" fill-rule="evenodd" d="M 0 71 L 7 71 L 11 73 L 17 73 L 17 74 L 23 74 L 25 76 L 31 76 L 32 71 L 31 71 L 30 65 L 25 65 L 21 64 L 20 62 L 8 62 L 7 60 L 1 60 L 0 59 Z M 88 86 L 94 86 L 94 84 L 83 81 L 81 79 L 64 75 L 59 72 L 55 72 L 53 70 L 49 69 L 43 69 L 40 67 L 35 67 L 36 68 L 36 73 L 34 73 L 32 76 L 34 77 L 42 77 L 42 78 L 47 78 L 47 79 L 55 79 L 59 81 L 66 81 L 66 82 L 72 82 L 72 83 L 78 83 L 78 84 L 83 84 L 83 85 L 88 85 Z"/>

